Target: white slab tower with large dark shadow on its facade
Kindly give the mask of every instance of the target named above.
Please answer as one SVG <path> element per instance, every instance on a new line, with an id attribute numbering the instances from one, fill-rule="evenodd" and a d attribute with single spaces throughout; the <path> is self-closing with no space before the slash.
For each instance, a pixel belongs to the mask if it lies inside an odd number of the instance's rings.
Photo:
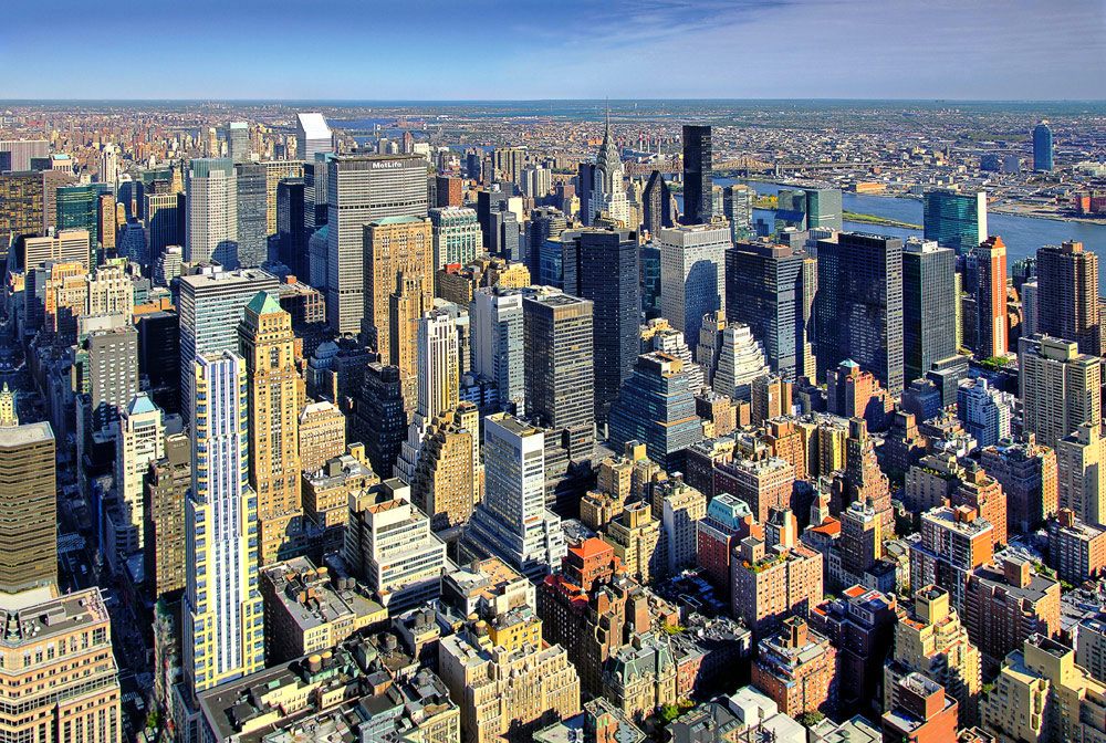
<path id="1" fill-rule="evenodd" d="M 702 318 L 726 314 L 726 251 L 730 228 L 688 224 L 660 230 L 660 314 L 692 342 Z"/>

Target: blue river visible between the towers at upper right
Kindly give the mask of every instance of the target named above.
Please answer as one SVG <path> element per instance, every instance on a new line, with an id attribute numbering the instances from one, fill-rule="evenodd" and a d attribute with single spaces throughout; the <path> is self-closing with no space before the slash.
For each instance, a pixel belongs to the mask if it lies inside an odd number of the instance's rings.
<path id="1" fill-rule="evenodd" d="M 781 188 L 776 184 L 765 184 L 755 180 L 714 179 L 716 185 L 723 187 L 734 182 L 748 184 L 757 189 L 758 193 L 766 195 L 774 195 Z M 845 211 L 855 211 L 858 214 L 873 214 L 900 222 L 921 224 L 920 199 L 845 192 L 842 193 L 841 201 Z M 757 219 L 764 219 L 771 224 L 773 212 L 754 209 L 753 220 Z M 1066 240 L 1082 242 L 1085 250 L 1093 250 L 1099 255 L 1106 253 L 1106 224 L 1086 224 L 1083 222 L 1064 222 L 1056 219 L 1041 219 L 1037 217 L 989 213 L 987 216 L 987 228 L 991 234 L 1000 236 L 1002 242 L 1005 243 L 1008 265 L 1012 265 L 1014 261 L 1023 258 L 1035 255 L 1037 248 L 1041 245 L 1058 245 Z M 921 230 L 881 227 L 879 224 L 851 222 L 848 220 L 845 221 L 845 229 L 876 234 L 891 234 L 904 239 L 910 236 L 921 236 Z M 1098 284 L 1099 292 L 1106 293 L 1106 269 L 1098 272 Z"/>

